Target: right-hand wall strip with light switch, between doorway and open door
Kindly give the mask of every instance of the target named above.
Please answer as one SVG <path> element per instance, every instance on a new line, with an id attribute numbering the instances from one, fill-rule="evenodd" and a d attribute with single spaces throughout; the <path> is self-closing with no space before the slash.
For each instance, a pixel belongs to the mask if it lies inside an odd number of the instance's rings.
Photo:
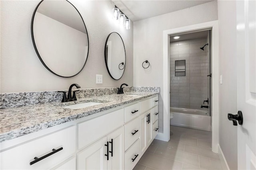
<path id="1" fill-rule="evenodd" d="M 228 113 L 237 113 L 236 1 L 218 1 L 220 37 L 220 147 L 230 169 L 237 169 L 237 126 Z"/>

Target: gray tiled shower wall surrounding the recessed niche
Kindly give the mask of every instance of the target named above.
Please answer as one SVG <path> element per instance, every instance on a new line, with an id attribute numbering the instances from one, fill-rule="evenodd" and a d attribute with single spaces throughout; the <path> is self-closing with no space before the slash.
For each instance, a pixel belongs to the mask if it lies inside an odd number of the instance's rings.
<path id="1" fill-rule="evenodd" d="M 207 100 L 209 80 L 208 47 L 206 38 L 170 43 L 170 107 L 201 109 Z M 175 61 L 186 60 L 186 76 L 175 76 Z M 205 103 L 204 105 L 207 105 Z"/>

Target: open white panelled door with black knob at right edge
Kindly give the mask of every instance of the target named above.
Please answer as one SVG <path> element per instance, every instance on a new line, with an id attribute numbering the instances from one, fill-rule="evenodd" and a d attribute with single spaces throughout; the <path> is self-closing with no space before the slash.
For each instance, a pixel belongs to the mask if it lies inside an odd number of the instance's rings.
<path id="1" fill-rule="evenodd" d="M 256 169 L 256 1 L 236 2 L 238 110 L 238 169 Z M 228 44 L 227 44 L 228 45 Z M 234 114 L 234 113 L 233 113 Z"/>

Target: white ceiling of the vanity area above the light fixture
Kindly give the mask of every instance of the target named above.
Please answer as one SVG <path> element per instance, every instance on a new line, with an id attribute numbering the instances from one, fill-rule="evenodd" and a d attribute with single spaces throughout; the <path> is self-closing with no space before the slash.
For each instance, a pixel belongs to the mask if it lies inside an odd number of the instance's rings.
<path id="1" fill-rule="evenodd" d="M 132 21 L 183 10 L 213 0 L 112 0 Z"/>

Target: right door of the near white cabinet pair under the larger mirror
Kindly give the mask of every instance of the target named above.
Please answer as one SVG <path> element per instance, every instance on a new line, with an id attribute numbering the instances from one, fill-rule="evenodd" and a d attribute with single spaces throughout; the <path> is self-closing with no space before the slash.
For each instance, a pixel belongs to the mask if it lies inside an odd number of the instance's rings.
<path id="1" fill-rule="evenodd" d="M 124 127 L 107 136 L 109 143 L 108 170 L 124 169 Z"/>

